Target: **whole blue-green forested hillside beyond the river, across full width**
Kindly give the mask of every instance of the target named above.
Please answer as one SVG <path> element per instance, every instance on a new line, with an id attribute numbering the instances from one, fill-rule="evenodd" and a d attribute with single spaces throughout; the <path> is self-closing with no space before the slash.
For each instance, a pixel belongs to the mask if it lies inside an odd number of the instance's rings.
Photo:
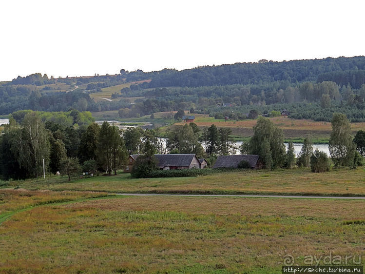
<path id="1" fill-rule="evenodd" d="M 89 94 L 102 88 L 131 84 L 112 95 L 112 102 L 95 102 Z M 83 86 L 54 92 L 47 85 Z M 41 87 L 41 88 L 40 88 Z M 136 98 L 134 103 L 129 98 Z M 108 111 L 139 117 L 160 111 L 190 110 L 214 117 L 245 118 L 287 109 L 290 117 L 330 121 L 334 112 L 365 121 L 365 57 L 326 58 L 201 66 L 177 71 L 120 70 L 117 75 L 48 78 L 40 73 L 0 84 L 0 115 L 17 110 Z"/>

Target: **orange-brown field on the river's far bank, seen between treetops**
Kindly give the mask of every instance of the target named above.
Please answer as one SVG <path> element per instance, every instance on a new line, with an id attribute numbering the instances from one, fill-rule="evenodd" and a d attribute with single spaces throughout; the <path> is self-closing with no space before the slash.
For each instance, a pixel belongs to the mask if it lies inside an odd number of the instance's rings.
<path id="1" fill-rule="evenodd" d="M 316 122 L 307 119 L 291 119 L 288 117 L 269 118 L 279 128 L 283 129 L 285 138 L 304 138 L 311 135 L 314 138 L 329 138 L 332 131 L 330 122 Z M 210 127 L 212 124 L 217 127 L 229 127 L 233 135 L 241 137 L 253 136 L 252 127 L 256 125 L 257 119 L 248 120 L 223 120 L 214 119 L 208 115 L 195 115 L 195 123 L 201 128 Z M 184 123 L 176 123 L 183 125 Z M 351 130 L 355 135 L 357 131 L 365 129 L 365 122 L 351 123 Z"/>

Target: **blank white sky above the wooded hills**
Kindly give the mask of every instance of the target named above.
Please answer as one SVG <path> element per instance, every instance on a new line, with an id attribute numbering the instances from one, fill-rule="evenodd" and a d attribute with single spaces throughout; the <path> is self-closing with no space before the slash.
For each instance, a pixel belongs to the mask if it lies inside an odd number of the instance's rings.
<path id="1" fill-rule="evenodd" d="M 11 0 L 0 81 L 365 55 L 364 0 Z"/>

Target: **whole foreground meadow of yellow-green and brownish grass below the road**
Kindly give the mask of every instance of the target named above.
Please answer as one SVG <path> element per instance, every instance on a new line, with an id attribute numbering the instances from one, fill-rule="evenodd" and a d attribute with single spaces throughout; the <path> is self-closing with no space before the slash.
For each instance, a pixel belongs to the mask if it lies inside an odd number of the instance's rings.
<path id="1" fill-rule="evenodd" d="M 12 200 L 24 203 L 23 192 Z M 279 274 L 288 255 L 299 265 L 330 254 L 358 263 L 364 207 L 361 200 L 156 196 L 41 205 L 0 224 L 0 272 Z"/>

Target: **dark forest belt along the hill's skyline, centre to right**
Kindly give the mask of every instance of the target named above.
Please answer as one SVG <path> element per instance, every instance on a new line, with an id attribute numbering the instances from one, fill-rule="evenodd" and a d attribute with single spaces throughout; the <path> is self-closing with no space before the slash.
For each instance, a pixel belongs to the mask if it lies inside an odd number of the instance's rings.
<path id="1" fill-rule="evenodd" d="M 336 76 L 343 78 L 342 72 L 365 69 L 365 57 L 326 58 L 310 60 L 292 60 L 273 62 L 263 60 L 260 63 L 235 63 L 220 66 L 202 66 L 183 71 L 162 70 L 146 73 L 151 78 L 150 87 L 196 87 L 229 84 L 254 84 L 288 80 L 289 82 L 335 80 Z M 336 72 L 332 75 L 331 73 Z M 361 80 L 361 79 L 359 79 Z M 362 73 L 362 83 L 365 74 Z M 347 84 L 347 83 L 346 83 Z M 356 83 L 359 85 L 359 83 Z M 360 84 L 361 86 L 361 84 Z"/>

